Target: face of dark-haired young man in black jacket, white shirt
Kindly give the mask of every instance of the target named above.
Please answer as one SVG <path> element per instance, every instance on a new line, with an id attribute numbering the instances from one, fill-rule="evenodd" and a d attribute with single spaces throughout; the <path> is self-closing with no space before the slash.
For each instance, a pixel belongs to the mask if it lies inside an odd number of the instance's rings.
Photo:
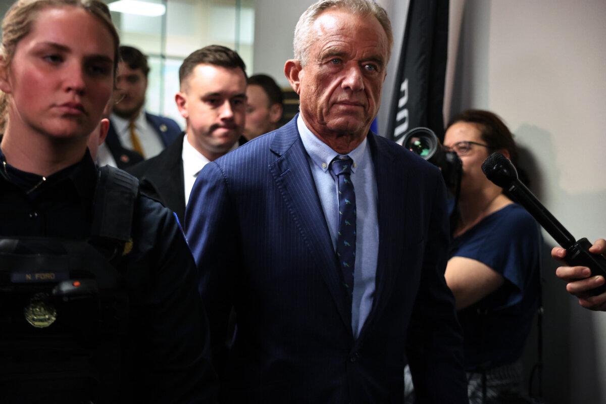
<path id="1" fill-rule="evenodd" d="M 200 64 L 184 81 L 175 99 L 187 121 L 187 139 L 207 158 L 215 159 L 227 153 L 242 136 L 246 110 L 244 71 Z"/>

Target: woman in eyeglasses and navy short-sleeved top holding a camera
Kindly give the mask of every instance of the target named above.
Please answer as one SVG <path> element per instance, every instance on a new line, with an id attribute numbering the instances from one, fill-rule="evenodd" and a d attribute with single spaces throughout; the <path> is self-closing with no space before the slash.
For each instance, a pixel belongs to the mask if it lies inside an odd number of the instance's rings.
<path id="1" fill-rule="evenodd" d="M 516 164 L 516 144 L 496 114 L 467 110 L 448 124 L 444 146 L 463 169 L 445 278 L 463 329 L 470 403 L 525 402 L 520 359 L 539 302 L 541 236 L 481 169 L 494 151 Z"/>

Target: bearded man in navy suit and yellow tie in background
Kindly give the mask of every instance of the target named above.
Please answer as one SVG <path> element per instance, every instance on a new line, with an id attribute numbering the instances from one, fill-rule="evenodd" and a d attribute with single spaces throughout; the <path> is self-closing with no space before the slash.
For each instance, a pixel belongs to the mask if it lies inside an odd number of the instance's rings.
<path id="1" fill-rule="evenodd" d="M 179 137 L 181 128 L 170 118 L 145 111 L 145 91 L 150 71 L 147 57 L 130 46 L 121 46 L 119 51 L 121 61 L 118 64 L 116 87 L 121 97 L 113 107 L 104 147 L 113 159 L 113 162 L 111 159 L 105 161 L 106 164 L 126 168 L 159 154 Z"/>

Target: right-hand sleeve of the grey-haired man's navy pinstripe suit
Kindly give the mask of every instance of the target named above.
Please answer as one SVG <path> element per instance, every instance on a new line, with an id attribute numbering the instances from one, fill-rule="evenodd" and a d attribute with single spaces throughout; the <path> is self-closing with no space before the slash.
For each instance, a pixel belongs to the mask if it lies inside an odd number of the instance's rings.
<path id="1" fill-rule="evenodd" d="M 435 195 L 421 282 L 408 328 L 407 356 L 419 402 L 467 403 L 461 327 L 454 297 L 444 279 L 449 242 L 445 187 L 435 172 Z"/>

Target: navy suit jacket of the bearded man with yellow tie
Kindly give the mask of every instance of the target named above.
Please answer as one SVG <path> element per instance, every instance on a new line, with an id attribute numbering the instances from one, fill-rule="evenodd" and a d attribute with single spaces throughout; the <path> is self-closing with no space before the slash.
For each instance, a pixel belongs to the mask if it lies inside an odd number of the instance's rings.
<path id="1" fill-rule="evenodd" d="M 175 141 L 175 139 L 179 137 L 179 133 L 181 133 L 181 128 L 179 128 L 177 122 L 170 118 L 152 115 L 146 112 L 145 119 L 147 119 L 147 122 L 156 130 L 164 147 L 167 147 Z M 121 168 L 122 170 L 144 160 L 141 154 L 134 150 L 127 149 L 122 145 L 111 119 L 110 128 L 108 129 L 107 137 L 105 138 L 105 145 L 107 145 L 110 153 L 112 153 L 118 168 Z"/>

